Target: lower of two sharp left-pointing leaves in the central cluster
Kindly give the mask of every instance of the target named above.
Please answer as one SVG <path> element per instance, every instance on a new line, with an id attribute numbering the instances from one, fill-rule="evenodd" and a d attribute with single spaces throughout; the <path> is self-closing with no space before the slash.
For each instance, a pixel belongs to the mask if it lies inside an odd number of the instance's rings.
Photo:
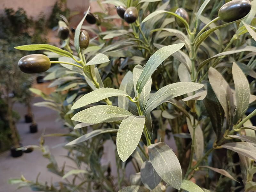
<path id="1" fill-rule="evenodd" d="M 83 123 L 102 123 L 123 120 L 132 115 L 129 111 L 112 105 L 93 106 L 75 114 L 71 120 Z"/>

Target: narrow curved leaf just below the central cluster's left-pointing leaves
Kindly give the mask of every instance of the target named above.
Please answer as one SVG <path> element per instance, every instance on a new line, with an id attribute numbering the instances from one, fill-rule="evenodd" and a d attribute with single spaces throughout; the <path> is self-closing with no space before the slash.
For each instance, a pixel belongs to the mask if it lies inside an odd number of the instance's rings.
<path id="1" fill-rule="evenodd" d="M 90 133 L 82 135 L 81 137 L 78 137 L 75 140 L 67 143 L 66 146 L 82 143 L 82 142 L 87 141 L 87 140 L 91 139 L 92 137 L 95 137 L 95 136 L 100 135 L 100 134 L 113 133 L 113 132 L 117 132 L 117 129 L 96 129 L 96 130 L 93 130 Z"/>

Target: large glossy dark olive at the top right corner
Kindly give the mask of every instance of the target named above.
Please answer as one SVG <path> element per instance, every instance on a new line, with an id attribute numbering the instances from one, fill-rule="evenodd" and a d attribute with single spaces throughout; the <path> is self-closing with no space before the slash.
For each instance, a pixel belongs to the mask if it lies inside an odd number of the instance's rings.
<path id="1" fill-rule="evenodd" d="M 248 0 L 232 0 L 222 5 L 218 12 L 218 16 L 224 22 L 232 22 L 246 16 L 252 8 L 252 4 Z"/>

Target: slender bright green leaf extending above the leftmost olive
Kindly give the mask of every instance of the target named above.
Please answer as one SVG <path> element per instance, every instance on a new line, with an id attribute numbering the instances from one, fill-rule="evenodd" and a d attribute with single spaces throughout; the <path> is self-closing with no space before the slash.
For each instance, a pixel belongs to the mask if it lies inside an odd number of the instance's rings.
<path id="1" fill-rule="evenodd" d="M 62 56 L 73 58 L 73 55 L 68 51 L 65 51 L 61 48 L 55 47 L 53 45 L 48 45 L 48 44 L 21 45 L 14 48 L 19 50 L 24 50 L 24 51 L 48 50 Z"/>

